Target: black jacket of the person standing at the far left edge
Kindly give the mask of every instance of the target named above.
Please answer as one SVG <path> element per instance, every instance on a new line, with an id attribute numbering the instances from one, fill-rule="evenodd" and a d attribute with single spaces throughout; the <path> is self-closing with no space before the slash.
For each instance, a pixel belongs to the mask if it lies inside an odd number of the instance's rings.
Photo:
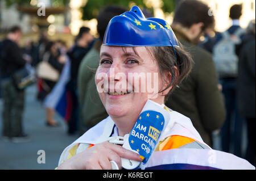
<path id="1" fill-rule="evenodd" d="M 2 45 L 0 64 L 1 77 L 11 77 L 16 70 L 26 64 L 26 60 L 22 58 L 22 50 L 14 41 L 5 39 Z"/>

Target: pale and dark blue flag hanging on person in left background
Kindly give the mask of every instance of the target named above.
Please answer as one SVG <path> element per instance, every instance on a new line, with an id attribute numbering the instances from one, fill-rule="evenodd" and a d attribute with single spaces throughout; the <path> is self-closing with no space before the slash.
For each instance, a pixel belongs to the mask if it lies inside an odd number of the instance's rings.
<path id="1" fill-rule="evenodd" d="M 50 94 L 47 95 L 44 101 L 44 107 L 55 110 L 65 121 L 71 117 L 72 97 L 71 92 L 66 89 L 66 85 L 70 79 L 71 62 L 69 58 L 65 62 L 64 68 L 61 71 L 59 81 L 53 87 Z"/>

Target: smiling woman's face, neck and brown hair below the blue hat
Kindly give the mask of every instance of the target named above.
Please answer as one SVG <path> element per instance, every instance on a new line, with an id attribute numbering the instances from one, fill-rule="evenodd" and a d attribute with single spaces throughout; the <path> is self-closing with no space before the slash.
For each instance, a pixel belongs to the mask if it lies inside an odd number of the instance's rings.
<path id="1" fill-rule="evenodd" d="M 172 47 L 166 48 L 170 51 L 170 56 L 166 58 L 156 54 L 156 50 L 158 49 L 155 47 L 124 48 L 114 45 L 101 47 L 96 85 L 98 90 L 100 87 L 104 90 L 99 91 L 99 95 L 106 111 L 112 119 L 118 120 L 115 121 L 115 125 L 117 125 L 119 136 L 130 132 L 147 99 L 163 104 L 165 95 L 181 81 L 178 75 L 184 77 L 191 69 L 192 60 L 189 56 L 186 58 L 183 56 L 183 60 L 180 61 L 183 63 L 179 65 Z M 176 50 L 176 52 L 179 51 L 180 49 Z M 155 91 L 148 91 L 152 85 Z"/>

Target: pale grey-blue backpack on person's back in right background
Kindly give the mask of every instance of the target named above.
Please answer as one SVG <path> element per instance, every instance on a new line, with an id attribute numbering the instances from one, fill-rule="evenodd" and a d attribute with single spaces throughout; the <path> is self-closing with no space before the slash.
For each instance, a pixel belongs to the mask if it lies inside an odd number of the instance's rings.
<path id="1" fill-rule="evenodd" d="M 238 56 L 236 45 L 241 44 L 240 36 L 245 31 L 238 28 L 233 35 L 228 31 L 221 33 L 222 39 L 213 47 L 213 61 L 220 78 L 237 77 Z"/>

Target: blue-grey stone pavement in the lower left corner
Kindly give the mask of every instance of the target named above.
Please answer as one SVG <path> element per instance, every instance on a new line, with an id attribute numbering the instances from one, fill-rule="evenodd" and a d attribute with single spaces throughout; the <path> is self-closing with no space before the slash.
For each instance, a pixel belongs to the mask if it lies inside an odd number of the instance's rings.
<path id="1" fill-rule="evenodd" d="M 2 131 L 3 103 L 0 99 L 0 130 Z M 0 169 L 55 169 L 63 149 L 76 140 L 67 134 L 67 125 L 58 115 L 60 127 L 46 127 L 45 110 L 36 100 L 36 86 L 26 89 L 23 128 L 31 140 L 26 143 L 5 142 L 0 139 Z M 2 133 L 2 132 L 1 132 Z M 38 163 L 38 150 L 46 153 L 46 163 Z"/>

